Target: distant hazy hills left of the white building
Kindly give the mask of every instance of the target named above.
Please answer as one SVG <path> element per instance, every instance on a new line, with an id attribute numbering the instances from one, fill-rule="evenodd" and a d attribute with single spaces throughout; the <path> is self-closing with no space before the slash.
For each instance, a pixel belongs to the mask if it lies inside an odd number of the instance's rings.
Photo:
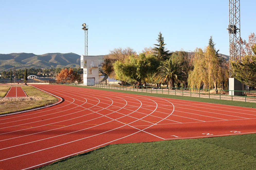
<path id="1" fill-rule="evenodd" d="M 80 55 L 75 53 L 47 53 L 36 55 L 33 53 L 0 54 L 0 71 L 10 68 L 64 68 L 80 67 Z"/>

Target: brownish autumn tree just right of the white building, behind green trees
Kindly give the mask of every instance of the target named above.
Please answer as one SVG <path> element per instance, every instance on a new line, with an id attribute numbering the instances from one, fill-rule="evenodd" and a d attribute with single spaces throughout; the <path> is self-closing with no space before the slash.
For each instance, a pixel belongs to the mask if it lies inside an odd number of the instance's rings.
<path id="1" fill-rule="evenodd" d="M 115 72 L 113 68 L 113 64 L 116 61 L 123 62 L 126 58 L 128 58 L 130 55 L 137 55 L 134 49 L 131 49 L 129 47 L 122 49 L 114 48 L 110 51 L 110 53 L 106 56 L 104 56 L 104 62 L 102 63 L 102 70 L 104 73 L 106 73 L 110 78 L 115 77 Z"/>

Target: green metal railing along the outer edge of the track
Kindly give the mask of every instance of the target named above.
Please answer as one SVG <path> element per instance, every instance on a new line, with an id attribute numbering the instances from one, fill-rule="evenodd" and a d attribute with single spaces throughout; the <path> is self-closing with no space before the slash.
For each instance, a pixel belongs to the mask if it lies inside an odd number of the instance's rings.
<path id="1" fill-rule="evenodd" d="M 86 86 L 86 85 L 78 84 L 78 86 Z M 111 84 L 95 84 L 91 87 L 156 93 L 156 94 L 178 95 L 178 96 L 187 96 L 187 97 L 200 97 L 200 98 L 212 98 L 212 99 L 243 101 L 243 102 L 256 102 L 256 91 L 236 91 L 236 92 L 241 92 L 241 94 L 243 95 L 233 96 L 233 95 L 229 95 L 229 90 L 223 90 L 223 89 L 216 90 L 216 89 L 178 88 L 178 87 L 169 88 L 169 87 L 131 86 L 131 85 L 118 85 L 118 84 L 112 84 L 112 85 Z"/>

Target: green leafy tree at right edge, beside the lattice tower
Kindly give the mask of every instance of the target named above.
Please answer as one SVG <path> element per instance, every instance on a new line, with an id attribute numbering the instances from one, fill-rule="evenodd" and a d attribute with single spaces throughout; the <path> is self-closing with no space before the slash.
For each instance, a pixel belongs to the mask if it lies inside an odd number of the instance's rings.
<path id="1" fill-rule="evenodd" d="M 254 55 L 246 55 L 241 62 L 231 62 L 234 77 L 245 85 L 256 87 L 256 44 L 251 46 Z"/>

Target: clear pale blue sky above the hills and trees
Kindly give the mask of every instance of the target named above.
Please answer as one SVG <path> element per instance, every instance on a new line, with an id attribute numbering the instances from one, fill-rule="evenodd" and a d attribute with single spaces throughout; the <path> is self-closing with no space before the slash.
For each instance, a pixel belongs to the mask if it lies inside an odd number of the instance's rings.
<path id="1" fill-rule="evenodd" d="M 169 51 L 194 51 L 210 36 L 229 55 L 228 0 L 0 0 L 0 53 L 88 55 L 154 47 L 161 31 Z M 240 1 L 241 37 L 256 33 L 256 1 Z"/>

